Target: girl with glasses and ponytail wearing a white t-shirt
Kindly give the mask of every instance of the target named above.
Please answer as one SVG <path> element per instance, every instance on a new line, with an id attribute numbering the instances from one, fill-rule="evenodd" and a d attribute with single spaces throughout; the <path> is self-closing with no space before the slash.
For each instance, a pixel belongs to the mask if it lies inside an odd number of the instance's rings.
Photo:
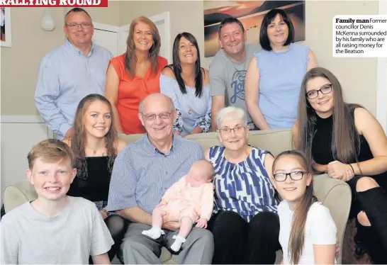
<path id="1" fill-rule="evenodd" d="M 330 211 L 313 195 L 312 169 L 301 152 L 285 151 L 273 163 L 281 264 L 335 264 L 337 228 Z"/>

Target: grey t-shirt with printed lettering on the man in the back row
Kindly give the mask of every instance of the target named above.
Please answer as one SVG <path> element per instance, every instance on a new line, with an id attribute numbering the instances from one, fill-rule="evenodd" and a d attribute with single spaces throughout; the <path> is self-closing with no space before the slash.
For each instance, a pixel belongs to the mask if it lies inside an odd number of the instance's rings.
<path id="1" fill-rule="evenodd" d="M 235 106 L 246 111 L 247 122 L 252 123 L 252 119 L 247 112 L 245 101 L 245 78 L 247 67 L 254 55 L 254 52 L 262 50 L 261 45 L 245 45 L 245 62 L 232 62 L 225 55 L 223 49 L 216 52 L 210 65 L 210 84 L 212 96 L 225 96 L 225 106 Z"/>

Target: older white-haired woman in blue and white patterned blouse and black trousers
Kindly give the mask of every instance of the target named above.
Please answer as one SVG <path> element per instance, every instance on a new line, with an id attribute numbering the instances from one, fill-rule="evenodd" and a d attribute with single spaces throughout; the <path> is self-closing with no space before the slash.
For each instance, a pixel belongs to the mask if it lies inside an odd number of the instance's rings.
<path id="1" fill-rule="evenodd" d="M 247 145 L 245 111 L 233 106 L 216 113 L 223 146 L 206 151 L 214 167 L 213 264 L 274 264 L 279 249 L 279 217 L 271 167 L 274 157 Z"/>

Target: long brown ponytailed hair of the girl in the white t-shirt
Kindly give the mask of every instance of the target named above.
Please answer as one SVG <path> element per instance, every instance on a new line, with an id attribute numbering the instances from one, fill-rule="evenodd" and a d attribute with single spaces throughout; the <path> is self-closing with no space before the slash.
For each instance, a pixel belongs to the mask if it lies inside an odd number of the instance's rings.
<path id="1" fill-rule="evenodd" d="M 298 160 L 301 164 L 301 167 L 305 169 L 305 174 L 312 174 L 311 163 L 305 157 L 305 155 L 298 150 L 291 150 L 281 152 L 273 162 L 273 173 L 276 167 L 278 160 L 281 157 L 291 156 Z M 275 181 L 275 180 L 274 180 Z M 314 196 L 313 193 L 313 179 L 310 182 L 309 186 L 306 186 L 305 193 L 303 197 L 298 201 L 296 208 L 293 213 L 293 220 L 291 222 L 291 232 L 288 242 L 288 255 L 290 264 L 298 264 L 300 256 L 303 254 L 303 245 L 305 242 L 305 223 L 308 216 L 308 211 L 310 206 L 317 202 L 318 199 Z"/>

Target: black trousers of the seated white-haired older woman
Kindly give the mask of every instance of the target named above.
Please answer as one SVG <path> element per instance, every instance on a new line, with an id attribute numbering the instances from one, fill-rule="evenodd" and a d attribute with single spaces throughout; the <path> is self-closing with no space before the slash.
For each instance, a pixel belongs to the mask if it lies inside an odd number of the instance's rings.
<path id="1" fill-rule="evenodd" d="M 279 244 L 279 216 L 258 213 L 250 222 L 232 211 L 208 222 L 214 237 L 213 264 L 274 264 Z"/>

